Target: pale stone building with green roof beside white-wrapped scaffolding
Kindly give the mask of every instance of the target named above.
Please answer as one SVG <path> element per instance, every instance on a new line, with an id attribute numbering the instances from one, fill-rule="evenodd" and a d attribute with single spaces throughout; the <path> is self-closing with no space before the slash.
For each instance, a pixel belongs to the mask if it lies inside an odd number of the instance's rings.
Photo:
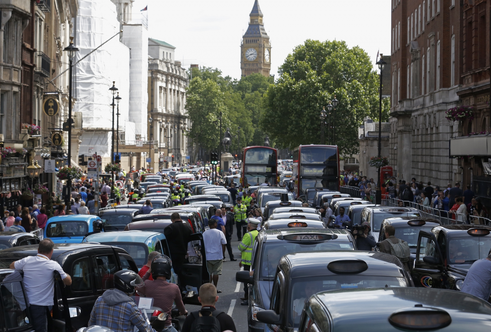
<path id="1" fill-rule="evenodd" d="M 148 39 L 148 124 L 150 138 L 156 141 L 160 157 L 174 156 L 174 163 L 187 163 L 191 140 L 186 132 L 191 128 L 186 112 L 188 73 L 175 61 L 175 47 L 161 40 Z M 161 162 L 161 166 L 164 164 Z M 168 165 L 164 165 L 168 166 Z"/>

